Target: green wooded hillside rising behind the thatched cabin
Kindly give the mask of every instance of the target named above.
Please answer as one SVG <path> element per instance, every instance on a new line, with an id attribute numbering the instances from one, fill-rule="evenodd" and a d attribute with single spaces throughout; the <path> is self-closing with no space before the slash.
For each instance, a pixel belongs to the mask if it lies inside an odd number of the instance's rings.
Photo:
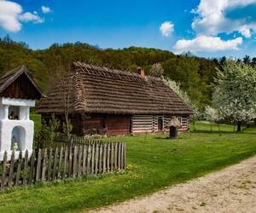
<path id="1" fill-rule="evenodd" d="M 198 58 L 194 55 L 174 55 L 170 51 L 130 47 L 125 49 L 99 49 L 87 43 L 54 43 L 49 49 L 33 50 L 26 43 L 17 43 L 9 36 L 0 38 L 0 75 L 17 66 L 26 65 L 33 78 L 47 95 L 73 61 L 92 63 L 137 72 L 142 67 L 146 74 L 155 63 L 163 67 L 164 78 L 180 84 L 192 103 L 203 108 L 210 104 L 211 83 L 222 60 Z"/>

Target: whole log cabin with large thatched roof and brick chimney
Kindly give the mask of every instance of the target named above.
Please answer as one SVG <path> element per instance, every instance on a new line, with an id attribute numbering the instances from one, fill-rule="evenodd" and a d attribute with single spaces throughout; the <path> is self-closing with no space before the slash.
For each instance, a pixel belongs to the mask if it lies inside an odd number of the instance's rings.
<path id="1" fill-rule="evenodd" d="M 129 135 L 168 131 L 173 115 L 188 130 L 192 110 L 160 78 L 74 62 L 70 73 L 37 107 L 47 120 L 63 120 L 68 109 L 73 133 Z"/>

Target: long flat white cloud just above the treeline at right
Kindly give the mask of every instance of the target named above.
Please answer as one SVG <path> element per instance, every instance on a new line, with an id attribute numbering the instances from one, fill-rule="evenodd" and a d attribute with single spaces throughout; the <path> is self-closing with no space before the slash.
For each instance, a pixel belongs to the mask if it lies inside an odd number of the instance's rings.
<path id="1" fill-rule="evenodd" d="M 237 46 L 242 43 L 241 37 L 236 37 L 232 40 L 224 41 L 220 37 L 208 37 L 208 36 L 198 36 L 191 40 L 178 40 L 174 46 L 177 53 L 182 53 L 184 51 L 219 51 L 227 49 L 239 49 Z"/>

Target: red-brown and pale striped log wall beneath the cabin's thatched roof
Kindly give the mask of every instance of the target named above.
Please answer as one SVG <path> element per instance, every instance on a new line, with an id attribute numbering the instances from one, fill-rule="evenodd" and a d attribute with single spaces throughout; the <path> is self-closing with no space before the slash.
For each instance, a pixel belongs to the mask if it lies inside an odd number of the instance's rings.
<path id="1" fill-rule="evenodd" d="M 63 121 L 63 118 L 57 116 Z M 163 130 L 158 130 L 158 118 L 163 118 Z M 49 120 L 50 115 L 44 115 L 44 119 Z M 171 120 L 171 115 L 107 115 L 107 114 L 90 114 L 90 115 L 70 115 L 73 124 L 73 134 L 107 134 L 128 135 L 130 133 L 157 133 L 169 131 L 166 124 Z M 177 116 L 182 124 L 180 131 L 188 130 L 189 119 L 187 116 Z"/>

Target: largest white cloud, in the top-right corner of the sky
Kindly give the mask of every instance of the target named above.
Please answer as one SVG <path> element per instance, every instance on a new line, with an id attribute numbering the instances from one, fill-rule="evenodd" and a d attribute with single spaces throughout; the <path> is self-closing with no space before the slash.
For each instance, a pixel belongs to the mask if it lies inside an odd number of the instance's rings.
<path id="1" fill-rule="evenodd" d="M 249 38 L 256 30 L 256 22 L 250 20 L 250 17 L 229 19 L 225 12 L 230 9 L 241 9 L 253 3 L 256 3 L 256 0 L 201 0 L 197 9 L 192 10 L 192 13 L 197 14 L 192 28 L 197 34 L 208 36 L 221 32 L 240 32 L 242 36 Z"/>

